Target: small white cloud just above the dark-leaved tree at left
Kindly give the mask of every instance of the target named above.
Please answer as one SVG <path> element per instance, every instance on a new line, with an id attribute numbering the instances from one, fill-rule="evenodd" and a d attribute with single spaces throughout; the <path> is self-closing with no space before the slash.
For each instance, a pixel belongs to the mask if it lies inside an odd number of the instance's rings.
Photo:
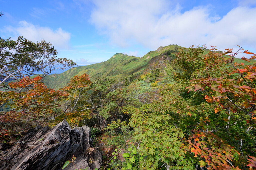
<path id="1" fill-rule="evenodd" d="M 61 28 L 52 30 L 49 27 L 40 27 L 30 24 L 27 21 L 20 21 L 18 27 L 9 26 L 6 27 L 5 31 L 13 33 L 14 37 L 23 36 L 32 42 L 44 39 L 59 49 L 69 48 L 70 33 L 63 31 Z"/>

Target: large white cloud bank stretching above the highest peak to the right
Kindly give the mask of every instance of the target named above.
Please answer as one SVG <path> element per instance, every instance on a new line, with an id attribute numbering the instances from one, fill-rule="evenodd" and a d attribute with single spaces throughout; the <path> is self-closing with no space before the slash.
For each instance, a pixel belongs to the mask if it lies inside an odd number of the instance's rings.
<path id="1" fill-rule="evenodd" d="M 91 22 L 122 47 L 131 42 L 152 49 L 170 44 L 206 44 L 221 50 L 256 47 L 256 8 L 249 6 L 236 7 L 220 18 L 202 6 L 181 13 L 178 5 L 165 0 L 95 0 L 94 4 Z"/>

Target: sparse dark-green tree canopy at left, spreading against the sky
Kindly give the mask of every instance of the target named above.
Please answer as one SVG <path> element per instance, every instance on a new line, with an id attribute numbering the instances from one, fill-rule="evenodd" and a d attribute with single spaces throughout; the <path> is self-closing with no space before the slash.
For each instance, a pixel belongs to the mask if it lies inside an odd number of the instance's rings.
<path id="1" fill-rule="evenodd" d="M 74 66 L 72 60 L 57 58 L 57 50 L 44 40 L 31 42 L 22 36 L 16 41 L 0 38 L 0 85 L 7 90 L 7 83 L 23 77 L 41 75 L 45 77 L 57 69 Z M 20 92 L 23 89 L 19 89 Z M 17 91 L 17 89 L 16 89 Z"/>

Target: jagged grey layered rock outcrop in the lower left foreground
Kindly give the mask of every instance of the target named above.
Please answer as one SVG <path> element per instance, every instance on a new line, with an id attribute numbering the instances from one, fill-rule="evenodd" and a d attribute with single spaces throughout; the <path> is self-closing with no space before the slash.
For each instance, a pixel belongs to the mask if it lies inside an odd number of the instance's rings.
<path id="1" fill-rule="evenodd" d="M 102 161 L 101 153 L 92 148 L 91 129 L 71 129 L 66 120 L 52 129 L 37 126 L 17 142 L 21 141 L 26 143 L 17 143 L 0 153 L 0 170 L 61 169 L 73 155 L 76 162 L 65 169 L 91 170 L 99 168 Z"/>

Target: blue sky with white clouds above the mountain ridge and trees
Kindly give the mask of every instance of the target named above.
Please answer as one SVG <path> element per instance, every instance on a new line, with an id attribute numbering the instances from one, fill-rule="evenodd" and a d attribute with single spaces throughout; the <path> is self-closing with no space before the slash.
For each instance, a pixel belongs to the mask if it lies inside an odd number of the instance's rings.
<path id="1" fill-rule="evenodd" d="M 0 37 L 44 39 L 79 65 L 170 44 L 256 52 L 255 0 L 0 0 L 0 10 Z"/>

